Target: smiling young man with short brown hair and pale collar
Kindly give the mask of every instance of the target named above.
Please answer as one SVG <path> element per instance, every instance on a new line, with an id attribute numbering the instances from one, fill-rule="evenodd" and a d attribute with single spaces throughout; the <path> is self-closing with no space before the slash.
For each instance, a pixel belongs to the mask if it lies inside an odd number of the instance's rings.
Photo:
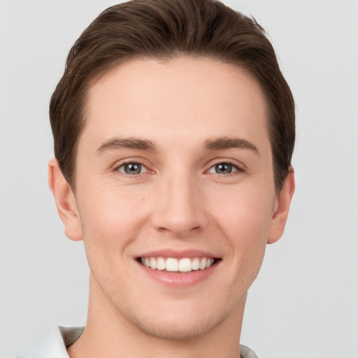
<path id="1" fill-rule="evenodd" d="M 50 120 L 90 301 L 85 329 L 25 357 L 256 357 L 239 344 L 246 294 L 294 192 L 294 101 L 263 29 L 210 0 L 108 8 Z"/>

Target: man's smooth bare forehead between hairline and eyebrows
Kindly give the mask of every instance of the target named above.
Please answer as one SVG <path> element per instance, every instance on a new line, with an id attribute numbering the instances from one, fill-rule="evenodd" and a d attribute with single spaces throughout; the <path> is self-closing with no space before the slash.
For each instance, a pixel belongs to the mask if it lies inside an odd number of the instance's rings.
<path id="1" fill-rule="evenodd" d="M 267 138 L 266 102 L 247 71 L 207 59 L 134 59 L 90 87 L 81 141 L 140 136 L 171 143 L 188 137 Z M 200 138 L 202 137 L 202 138 Z"/>

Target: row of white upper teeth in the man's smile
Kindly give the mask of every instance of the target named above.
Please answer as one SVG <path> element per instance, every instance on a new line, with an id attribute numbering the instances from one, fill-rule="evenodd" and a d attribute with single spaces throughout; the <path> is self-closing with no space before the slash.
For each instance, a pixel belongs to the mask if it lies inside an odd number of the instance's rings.
<path id="1" fill-rule="evenodd" d="M 163 257 L 142 257 L 141 262 L 144 266 L 157 270 L 189 272 L 210 267 L 214 263 L 214 259 L 212 257 L 185 257 L 183 259 L 175 259 L 173 257 L 166 259 Z"/>

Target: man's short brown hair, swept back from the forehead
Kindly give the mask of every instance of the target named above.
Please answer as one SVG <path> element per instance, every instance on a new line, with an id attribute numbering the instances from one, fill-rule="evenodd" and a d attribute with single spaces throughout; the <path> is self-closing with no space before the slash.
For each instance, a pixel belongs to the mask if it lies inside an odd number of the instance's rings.
<path id="1" fill-rule="evenodd" d="M 93 81 L 130 59 L 179 55 L 234 64 L 256 78 L 268 105 L 275 189 L 280 192 L 294 149 L 292 93 L 264 29 L 215 0 L 128 1 L 104 10 L 83 31 L 50 101 L 55 157 L 71 187 L 85 126 L 86 94 Z"/>

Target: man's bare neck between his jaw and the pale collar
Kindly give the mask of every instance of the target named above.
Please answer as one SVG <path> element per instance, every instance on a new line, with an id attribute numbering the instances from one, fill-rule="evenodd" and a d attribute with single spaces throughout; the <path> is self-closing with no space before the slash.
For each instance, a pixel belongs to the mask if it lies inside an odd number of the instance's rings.
<path id="1" fill-rule="evenodd" d="M 70 358 L 238 358 L 243 303 L 216 327 L 185 340 L 146 334 L 127 320 L 90 280 L 90 302 L 83 335 L 68 348 Z"/>

